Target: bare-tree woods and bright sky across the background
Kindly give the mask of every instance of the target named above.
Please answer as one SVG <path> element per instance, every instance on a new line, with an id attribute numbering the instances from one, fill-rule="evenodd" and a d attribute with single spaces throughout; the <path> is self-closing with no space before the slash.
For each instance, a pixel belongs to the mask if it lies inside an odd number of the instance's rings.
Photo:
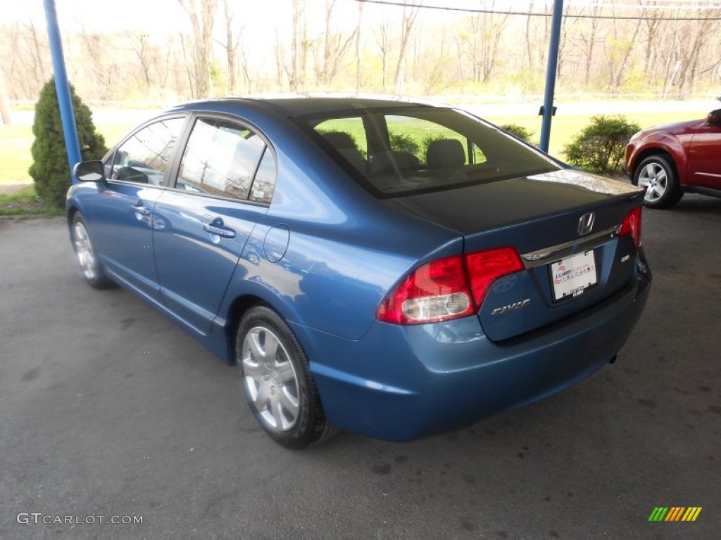
<path id="1" fill-rule="evenodd" d="M 544 90 L 552 1 L 173 0 L 131 29 L 58 0 L 68 77 L 84 99 L 363 91 L 525 99 Z M 76 4 L 78 2 L 76 1 Z M 420 7 L 425 4 L 425 7 Z M 721 93 L 721 2 L 566 0 L 557 95 Z M 464 6 L 466 11 L 428 9 Z M 118 9 L 122 9 L 118 4 Z M 514 13 L 509 13 L 514 12 Z M 44 17 L 0 25 L 10 99 L 52 66 Z"/>

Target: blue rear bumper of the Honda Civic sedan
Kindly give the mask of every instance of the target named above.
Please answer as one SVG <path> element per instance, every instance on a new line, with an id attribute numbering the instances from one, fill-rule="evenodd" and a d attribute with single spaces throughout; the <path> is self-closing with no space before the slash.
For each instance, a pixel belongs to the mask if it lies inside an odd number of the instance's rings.
<path id="1" fill-rule="evenodd" d="M 407 441 L 469 426 L 569 387 L 614 358 L 639 320 L 650 273 L 575 318 L 493 343 L 476 317 L 374 323 L 359 341 L 301 330 L 329 423 Z"/>

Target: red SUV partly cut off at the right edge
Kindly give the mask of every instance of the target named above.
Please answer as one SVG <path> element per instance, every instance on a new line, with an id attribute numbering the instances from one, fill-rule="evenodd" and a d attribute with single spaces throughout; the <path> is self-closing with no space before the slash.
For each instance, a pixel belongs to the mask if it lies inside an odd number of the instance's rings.
<path id="1" fill-rule="evenodd" d="M 626 169 L 646 190 L 647 207 L 671 207 L 686 192 L 721 197 L 721 109 L 706 120 L 637 132 L 626 147 Z"/>

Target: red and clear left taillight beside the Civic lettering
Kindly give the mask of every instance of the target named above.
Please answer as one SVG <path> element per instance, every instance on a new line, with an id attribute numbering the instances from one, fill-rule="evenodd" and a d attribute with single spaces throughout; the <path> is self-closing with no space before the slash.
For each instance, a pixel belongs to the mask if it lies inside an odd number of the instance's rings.
<path id="1" fill-rule="evenodd" d="M 405 325 L 472 315 L 495 279 L 521 269 L 513 248 L 436 259 L 412 271 L 381 303 L 376 318 Z"/>

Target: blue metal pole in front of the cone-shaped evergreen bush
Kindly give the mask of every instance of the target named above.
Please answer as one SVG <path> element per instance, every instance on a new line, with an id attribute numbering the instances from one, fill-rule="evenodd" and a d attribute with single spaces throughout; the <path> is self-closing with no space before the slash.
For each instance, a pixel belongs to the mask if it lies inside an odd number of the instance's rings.
<path id="1" fill-rule="evenodd" d="M 48 21 L 50 55 L 53 57 L 55 88 L 58 93 L 58 104 L 60 105 L 60 119 L 63 122 L 63 135 L 65 135 L 65 146 L 68 152 L 68 165 L 70 166 L 71 179 L 73 183 L 75 183 L 77 180 L 73 176 L 72 171 L 75 163 L 79 163 L 81 160 L 80 144 L 78 143 L 78 130 L 75 126 L 75 114 L 73 114 L 70 86 L 68 86 L 68 74 L 65 71 L 63 42 L 60 39 L 55 0 L 45 0 L 45 19 Z"/>

